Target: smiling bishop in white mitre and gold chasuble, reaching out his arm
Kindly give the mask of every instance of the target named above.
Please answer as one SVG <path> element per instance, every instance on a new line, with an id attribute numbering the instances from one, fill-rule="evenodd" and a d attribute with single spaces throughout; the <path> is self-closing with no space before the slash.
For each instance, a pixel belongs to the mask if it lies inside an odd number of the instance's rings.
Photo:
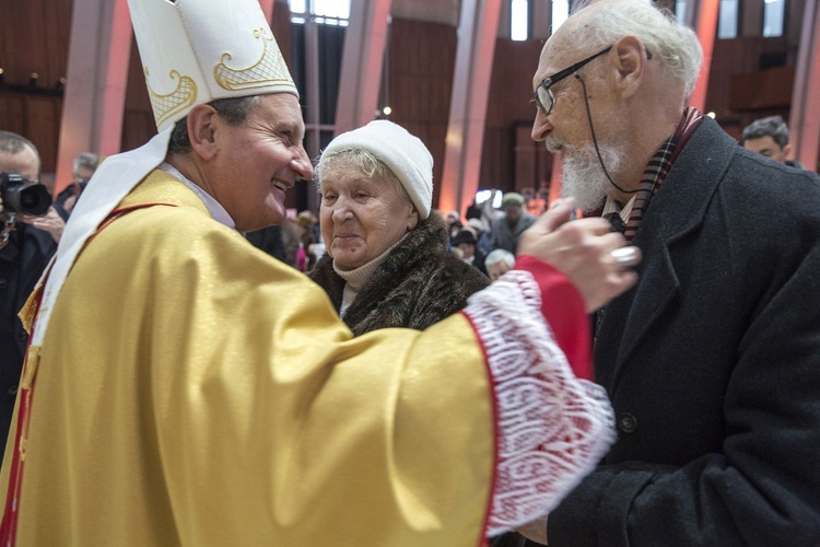
<path id="1" fill-rule="evenodd" d="M 99 166 L 30 301 L 2 543 L 458 546 L 548 512 L 611 442 L 573 370 L 637 253 L 566 203 L 462 313 L 353 338 L 239 234 L 313 171 L 259 3 L 129 8 L 159 135 Z"/>

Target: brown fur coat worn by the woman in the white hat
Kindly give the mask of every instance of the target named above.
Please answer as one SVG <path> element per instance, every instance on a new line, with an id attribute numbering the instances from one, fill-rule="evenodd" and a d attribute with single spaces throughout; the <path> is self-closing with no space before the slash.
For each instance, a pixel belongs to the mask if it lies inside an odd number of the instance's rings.
<path id="1" fill-rule="evenodd" d="M 382 263 L 344 313 L 356 336 L 387 327 L 424 329 L 467 305 L 467 298 L 490 284 L 472 266 L 447 249 L 447 225 L 433 211 Z M 344 280 L 323 256 L 309 272 L 338 311 Z"/>

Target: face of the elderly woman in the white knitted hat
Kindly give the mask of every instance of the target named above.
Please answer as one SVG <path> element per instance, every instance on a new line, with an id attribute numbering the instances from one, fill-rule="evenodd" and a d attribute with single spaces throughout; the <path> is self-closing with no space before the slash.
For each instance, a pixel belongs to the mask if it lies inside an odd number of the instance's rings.
<path id="1" fill-rule="evenodd" d="M 352 270 L 415 228 L 419 213 L 391 181 L 368 178 L 343 158 L 330 162 L 321 176 L 321 236 L 337 268 Z"/>

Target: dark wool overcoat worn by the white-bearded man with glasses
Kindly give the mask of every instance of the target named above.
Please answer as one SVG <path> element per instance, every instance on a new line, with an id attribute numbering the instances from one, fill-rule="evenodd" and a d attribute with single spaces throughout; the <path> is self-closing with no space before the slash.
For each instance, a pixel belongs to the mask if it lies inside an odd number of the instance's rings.
<path id="1" fill-rule="evenodd" d="M 819 242 L 820 179 L 704 117 L 598 330 L 618 441 L 550 546 L 820 545 Z"/>

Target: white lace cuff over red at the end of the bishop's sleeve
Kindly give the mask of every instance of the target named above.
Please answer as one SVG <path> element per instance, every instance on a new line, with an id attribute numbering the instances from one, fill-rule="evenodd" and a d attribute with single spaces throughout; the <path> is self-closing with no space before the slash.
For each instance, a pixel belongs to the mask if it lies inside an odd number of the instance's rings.
<path id="1" fill-rule="evenodd" d="M 513 270 L 464 310 L 483 342 L 496 407 L 487 537 L 549 513 L 616 439 L 606 392 L 574 375 L 540 309 L 532 276 Z"/>

